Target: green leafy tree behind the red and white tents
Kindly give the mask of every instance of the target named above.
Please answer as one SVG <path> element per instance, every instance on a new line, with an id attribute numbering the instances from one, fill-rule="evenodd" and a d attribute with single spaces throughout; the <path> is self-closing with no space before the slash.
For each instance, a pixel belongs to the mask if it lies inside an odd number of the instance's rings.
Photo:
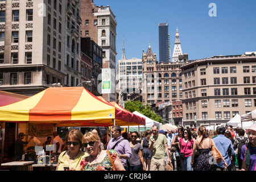
<path id="1" fill-rule="evenodd" d="M 163 123 L 162 117 L 160 115 L 156 115 L 154 111 L 152 111 L 150 105 L 144 105 L 140 101 L 128 101 L 125 102 L 125 109 L 129 110 L 131 113 L 134 111 L 138 111 L 139 113 L 145 115 L 146 117 L 153 119 L 154 121 Z"/>

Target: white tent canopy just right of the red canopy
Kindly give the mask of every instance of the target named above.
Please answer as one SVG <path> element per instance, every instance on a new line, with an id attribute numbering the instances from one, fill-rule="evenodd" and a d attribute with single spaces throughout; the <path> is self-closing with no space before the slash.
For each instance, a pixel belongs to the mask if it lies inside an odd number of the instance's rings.
<path id="1" fill-rule="evenodd" d="M 138 111 L 134 111 L 133 114 L 136 114 L 140 117 L 143 117 L 146 119 L 146 125 L 139 125 L 139 129 L 138 129 L 138 126 L 129 126 L 129 131 L 145 131 L 145 127 L 146 127 L 146 130 L 149 130 L 151 129 L 151 127 L 153 125 L 158 125 L 159 127 L 159 122 L 157 121 L 154 121 L 153 119 L 150 119 L 148 117 L 146 117 L 145 115 L 139 113 Z M 128 126 L 121 126 L 123 128 L 128 128 Z"/>

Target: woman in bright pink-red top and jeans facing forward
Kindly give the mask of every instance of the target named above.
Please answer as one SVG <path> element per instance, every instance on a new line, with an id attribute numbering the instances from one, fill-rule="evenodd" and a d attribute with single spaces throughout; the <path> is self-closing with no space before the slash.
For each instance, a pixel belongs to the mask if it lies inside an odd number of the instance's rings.
<path id="1" fill-rule="evenodd" d="M 184 159 L 181 159 L 181 165 L 183 171 L 192 171 L 191 166 L 191 155 L 193 151 L 193 143 L 191 131 L 189 129 L 184 129 L 182 137 L 180 138 L 180 153 L 184 153 Z"/>

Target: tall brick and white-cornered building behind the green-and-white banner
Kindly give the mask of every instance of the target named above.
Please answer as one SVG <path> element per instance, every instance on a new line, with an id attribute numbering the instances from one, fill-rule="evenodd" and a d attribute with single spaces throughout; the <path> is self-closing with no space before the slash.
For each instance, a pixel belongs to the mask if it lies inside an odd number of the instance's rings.
<path id="1" fill-rule="evenodd" d="M 102 94 L 108 101 L 115 101 L 116 27 L 115 15 L 109 6 L 96 6 L 92 0 L 81 0 L 82 38 L 90 38 L 102 48 L 102 68 L 111 68 L 111 93 Z M 93 65 L 94 67 L 94 65 Z"/>

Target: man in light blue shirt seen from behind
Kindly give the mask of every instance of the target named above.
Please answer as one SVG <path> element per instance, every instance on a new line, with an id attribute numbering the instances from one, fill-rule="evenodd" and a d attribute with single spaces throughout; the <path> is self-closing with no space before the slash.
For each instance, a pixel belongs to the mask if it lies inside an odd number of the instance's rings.
<path id="1" fill-rule="evenodd" d="M 218 150 L 221 152 L 223 158 L 225 159 L 226 163 L 228 164 L 228 171 L 232 171 L 232 165 L 231 164 L 231 160 L 230 160 L 230 156 L 234 155 L 234 148 L 233 148 L 233 144 L 232 141 L 229 138 L 226 138 L 224 136 L 225 134 L 225 127 L 217 127 L 217 133 L 218 133 L 218 137 L 213 138 L 214 143 L 216 144 L 216 147 L 218 148 Z M 229 154 L 229 151 L 230 154 Z M 224 162 L 220 162 L 216 164 L 217 166 L 217 171 L 223 171 L 224 169 Z"/>

